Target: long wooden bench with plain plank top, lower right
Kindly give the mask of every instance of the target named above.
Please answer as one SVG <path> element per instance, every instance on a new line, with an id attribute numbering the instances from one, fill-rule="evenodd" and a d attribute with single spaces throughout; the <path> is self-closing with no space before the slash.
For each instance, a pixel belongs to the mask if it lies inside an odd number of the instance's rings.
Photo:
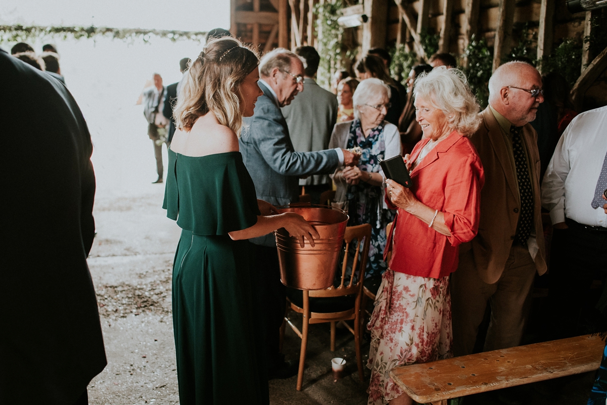
<path id="1" fill-rule="evenodd" d="M 596 370 L 604 347 L 602 336 L 576 336 L 396 367 L 390 377 L 414 401 L 446 405 L 451 398 Z"/>

